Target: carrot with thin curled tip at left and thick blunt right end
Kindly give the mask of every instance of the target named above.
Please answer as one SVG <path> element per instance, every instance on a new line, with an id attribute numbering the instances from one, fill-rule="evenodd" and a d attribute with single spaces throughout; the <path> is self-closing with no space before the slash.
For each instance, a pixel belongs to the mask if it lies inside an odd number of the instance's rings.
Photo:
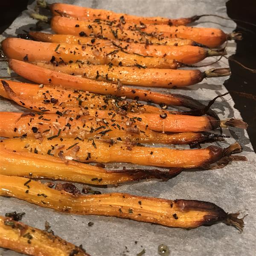
<path id="1" fill-rule="evenodd" d="M 87 108 L 66 108 L 60 105 L 45 104 L 45 102 L 33 102 L 31 99 L 22 98 L 17 96 L 14 91 L 9 87 L 9 84 L 2 80 L 3 87 L 8 94 L 8 97 L 15 101 L 18 105 L 26 107 L 33 111 L 42 113 L 58 114 L 58 116 L 92 116 L 103 119 L 113 119 L 113 122 L 139 122 L 139 125 L 148 127 L 154 131 L 183 132 L 183 131 L 207 131 L 214 130 L 219 127 L 219 121 L 211 116 L 186 116 L 174 114 L 134 114 L 122 113 L 117 114 L 113 111 L 102 111 Z M 124 117 L 125 116 L 125 117 Z M 118 127 L 118 125 L 116 125 Z M 116 127 L 114 127 L 116 129 Z M 124 129 L 124 128 L 122 128 Z"/>

